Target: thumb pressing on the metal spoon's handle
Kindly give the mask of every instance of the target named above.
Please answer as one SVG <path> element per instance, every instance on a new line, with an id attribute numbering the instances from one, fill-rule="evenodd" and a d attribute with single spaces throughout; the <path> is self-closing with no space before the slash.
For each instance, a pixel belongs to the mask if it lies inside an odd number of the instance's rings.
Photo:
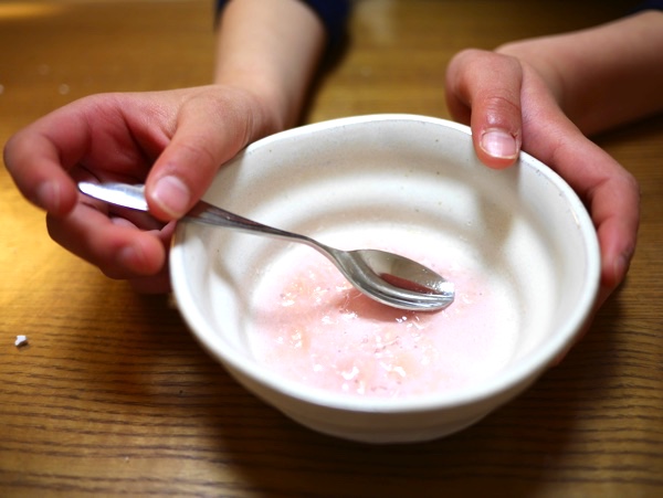
<path id="1" fill-rule="evenodd" d="M 181 218 L 204 193 L 219 167 L 246 146 L 251 116 L 228 98 L 194 98 L 182 106 L 177 130 L 146 181 L 150 212 Z"/>

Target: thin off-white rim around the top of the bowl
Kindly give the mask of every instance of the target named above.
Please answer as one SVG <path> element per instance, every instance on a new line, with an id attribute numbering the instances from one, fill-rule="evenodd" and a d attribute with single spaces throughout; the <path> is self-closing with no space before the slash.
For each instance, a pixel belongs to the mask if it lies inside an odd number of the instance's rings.
<path id="1" fill-rule="evenodd" d="M 302 137 L 303 135 L 319 133 L 330 128 L 385 121 L 417 121 L 432 124 L 462 131 L 470 137 L 472 135 L 469 126 L 443 118 L 414 114 L 369 114 L 335 118 L 281 131 L 256 140 L 249 145 L 244 151 L 251 152 L 262 147 L 269 147 L 275 141 L 281 141 L 291 137 Z M 232 163 L 232 161 L 233 159 L 228 163 Z M 520 361 L 498 372 L 498 374 L 488 379 L 486 382 L 470 385 L 461 390 L 443 391 L 421 396 L 381 399 L 350 396 L 343 393 L 327 392 L 304 385 L 294 380 L 274 375 L 273 373 L 270 374 L 269 369 L 255 369 L 254 367 L 256 363 L 254 361 L 243 356 L 232 354 L 232 351 L 229 353 L 225 347 L 225 345 L 228 345 L 227 341 L 213 340 L 215 337 L 222 338 L 222 336 L 208 326 L 202 314 L 198 312 L 197 303 L 192 298 L 192 295 L 188 292 L 187 273 L 185 271 L 185 265 L 182 264 L 185 252 L 183 242 L 187 240 L 187 223 L 177 224 L 171 241 L 171 253 L 169 258 L 171 287 L 177 307 L 194 338 L 212 357 L 227 368 L 227 371 L 230 370 L 229 373 L 235 375 L 232 371 L 234 370 L 251 379 L 253 382 L 262 384 L 262 386 L 269 388 L 274 392 L 282 393 L 283 395 L 298 400 L 299 402 L 312 403 L 327 409 L 358 413 L 380 412 L 390 414 L 411 414 L 414 412 L 439 411 L 441 409 L 481 403 L 499 393 L 512 391 L 518 386 L 526 386 L 534 382 L 548 367 L 556 362 L 560 354 L 568 350 L 572 341 L 580 333 L 588 318 L 591 316 L 599 290 L 601 259 L 596 229 L 585 204 L 577 193 L 555 170 L 533 156 L 520 152 L 519 161 L 525 167 L 535 169 L 537 173 L 543 174 L 548 179 L 548 181 L 550 181 L 568 201 L 569 209 L 572 212 L 581 233 L 587 254 L 587 278 L 583 280 L 583 288 L 578 299 L 578 306 L 573 308 L 572 312 L 569 314 L 564 321 L 562 330 L 560 330 L 559 333 L 556 333 L 554 338 L 548 339 L 548 346 L 532 351 Z M 232 346 L 229 347 L 233 349 Z"/>

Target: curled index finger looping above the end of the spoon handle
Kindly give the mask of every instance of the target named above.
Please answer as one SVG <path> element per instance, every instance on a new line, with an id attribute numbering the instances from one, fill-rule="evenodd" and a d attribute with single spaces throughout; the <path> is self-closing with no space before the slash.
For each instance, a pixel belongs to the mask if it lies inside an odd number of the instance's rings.
<path id="1" fill-rule="evenodd" d="M 66 215 L 76 203 L 75 180 L 82 176 L 145 178 L 165 142 L 159 123 L 146 119 L 159 114 L 157 107 L 151 98 L 128 94 L 82 98 L 11 137 L 4 162 L 30 201 L 53 216 Z"/>

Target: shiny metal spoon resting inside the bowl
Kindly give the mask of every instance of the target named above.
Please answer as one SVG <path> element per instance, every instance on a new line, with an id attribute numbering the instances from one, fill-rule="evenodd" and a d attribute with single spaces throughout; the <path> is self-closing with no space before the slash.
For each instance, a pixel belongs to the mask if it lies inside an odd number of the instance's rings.
<path id="1" fill-rule="evenodd" d="M 149 211 L 141 184 L 80 182 L 78 189 L 109 204 Z M 183 219 L 309 245 L 327 256 L 358 290 L 396 308 L 432 311 L 453 303 L 454 286 L 451 282 L 397 254 L 377 250 L 340 251 L 305 235 L 256 223 L 204 201 L 198 202 Z"/>

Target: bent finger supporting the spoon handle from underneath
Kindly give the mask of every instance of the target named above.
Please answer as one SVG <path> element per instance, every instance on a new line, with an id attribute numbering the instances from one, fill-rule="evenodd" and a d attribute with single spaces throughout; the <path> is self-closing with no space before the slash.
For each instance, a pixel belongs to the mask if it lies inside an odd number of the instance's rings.
<path id="1" fill-rule="evenodd" d="M 143 232 L 85 204 L 65 218 L 48 216 L 51 237 L 112 278 L 157 274 L 165 265 L 168 233 Z"/>

